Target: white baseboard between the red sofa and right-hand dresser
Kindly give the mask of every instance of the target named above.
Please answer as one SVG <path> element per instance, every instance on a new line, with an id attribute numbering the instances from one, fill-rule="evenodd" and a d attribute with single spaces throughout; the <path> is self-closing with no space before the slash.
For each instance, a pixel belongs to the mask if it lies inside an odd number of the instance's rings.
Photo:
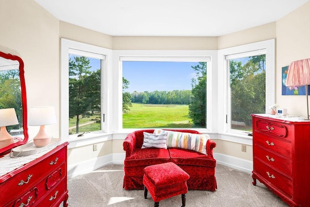
<path id="1" fill-rule="evenodd" d="M 213 153 L 213 156 L 217 160 L 218 164 L 225 165 L 227 167 L 231 167 L 233 169 L 246 172 L 248 174 L 252 174 L 253 161 L 249 161 L 247 159 L 240 159 L 221 153 Z"/>

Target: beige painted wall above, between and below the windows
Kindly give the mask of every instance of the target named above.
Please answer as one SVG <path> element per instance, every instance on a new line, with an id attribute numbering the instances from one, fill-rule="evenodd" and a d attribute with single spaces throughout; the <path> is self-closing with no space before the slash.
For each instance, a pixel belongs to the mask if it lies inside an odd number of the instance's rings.
<path id="1" fill-rule="evenodd" d="M 25 63 L 28 106 L 55 106 L 60 113 L 60 38 L 112 49 L 221 49 L 276 38 L 276 101 L 290 114 L 306 115 L 305 96 L 281 96 L 281 67 L 310 58 L 310 2 L 272 22 L 220 37 L 118 37 L 59 21 L 34 0 L 0 1 L 0 51 L 20 56 Z M 18 14 L 18 15 L 17 15 Z M 3 21 L 5 19 L 5 21 Z M 48 77 L 48 78 L 47 78 Z M 37 132 L 30 127 L 30 137 Z M 47 126 L 54 137 L 59 124 Z M 216 140 L 215 152 L 252 159 L 251 146 Z M 104 149 L 101 151 L 100 146 Z M 69 150 L 69 164 L 110 153 L 123 152 L 122 140 Z"/>

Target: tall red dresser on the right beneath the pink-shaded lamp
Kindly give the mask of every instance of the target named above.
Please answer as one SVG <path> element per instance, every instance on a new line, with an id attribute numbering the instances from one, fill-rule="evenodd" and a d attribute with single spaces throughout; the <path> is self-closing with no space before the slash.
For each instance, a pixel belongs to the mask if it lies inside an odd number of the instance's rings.
<path id="1" fill-rule="evenodd" d="M 292 207 L 310 207 L 310 122 L 298 117 L 253 118 L 256 179 Z"/>

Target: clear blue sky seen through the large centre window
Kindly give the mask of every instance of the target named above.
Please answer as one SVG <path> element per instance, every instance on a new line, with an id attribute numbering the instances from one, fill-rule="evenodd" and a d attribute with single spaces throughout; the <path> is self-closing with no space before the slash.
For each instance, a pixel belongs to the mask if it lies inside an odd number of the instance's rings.
<path id="1" fill-rule="evenodd" d="M 194 62 L 123 61 L 123 77 L 129 81 L 127 92 L 191 90 Z"/>

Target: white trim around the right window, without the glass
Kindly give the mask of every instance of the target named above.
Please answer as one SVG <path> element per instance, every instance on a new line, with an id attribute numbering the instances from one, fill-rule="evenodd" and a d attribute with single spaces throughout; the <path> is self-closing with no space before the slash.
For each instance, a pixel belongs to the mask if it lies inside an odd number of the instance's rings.
<path id="1" fill-rule="evenodd" d="M 226 141 L 235 142 L 235 137 L 231 135 L 235 134 L 240 136 L 240 138 L 244 138 L 247 143 L 248 140 L 251 140 L 251 137 L 247 136 L 245 133 L 233 131 L 227 132 L 228 125 L 226 124 L 226 114 L 228 113 L 227 107 L 227 88 L 228 88 L 228 70 L 227 63 L 225 57 L 230 56 L 229 58 L 233 58 L 238 56 L 239 53 L 244 53 L 248 51 L 256 51 L 256 50 L 265 50 L 266 51 L 266 111 L 267 106 L 275 103 L 275 40 L 265 40 L 257 43 L 251 43 L 247 45 L 237 46 L 233 48 L 225 48 L 218 50 L 218 79 L 217 79 L 217 90 L 219 94 L 223 96 L 217 96 L 218 108 L 223 109 L 217 112 L 218 120 L 218 134 L 223 135 L 220 139 Z M 239 56 L 240 57 L 240 56 Z M 247 140 L 247 141 L 246 141 Z"/>

